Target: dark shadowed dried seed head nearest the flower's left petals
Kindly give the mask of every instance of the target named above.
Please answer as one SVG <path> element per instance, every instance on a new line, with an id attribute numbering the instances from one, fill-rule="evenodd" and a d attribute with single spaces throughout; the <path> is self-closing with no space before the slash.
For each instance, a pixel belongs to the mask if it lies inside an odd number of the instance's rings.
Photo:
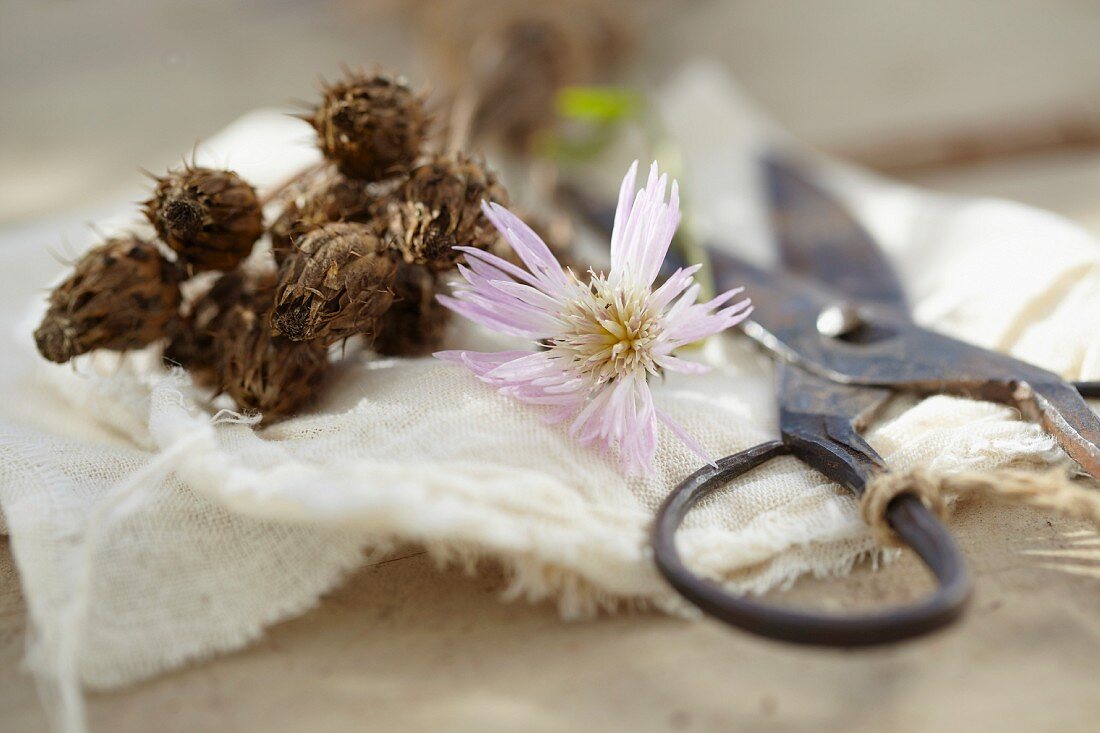
<path id="1" fill-rule="evenodd" d="M 424 265 L 402 263 L 394 304 L 378 324 L 374 350 L 387 357 L 422 357 L 439 349 L 451 311 L 436 300 L 437 275 Z"/>

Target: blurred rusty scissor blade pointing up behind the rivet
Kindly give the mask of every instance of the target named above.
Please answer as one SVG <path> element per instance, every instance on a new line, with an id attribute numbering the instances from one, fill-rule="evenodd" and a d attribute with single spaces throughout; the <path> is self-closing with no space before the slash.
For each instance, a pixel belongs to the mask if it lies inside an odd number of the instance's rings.
<path id="1" fill-rule="evenodd" d="M 787 158 L 767 155 L 761 167 L 776 243 L 789 272 L 826 283 L 854 302 L 908 313 L 893 267 L 844 206 Z"/>

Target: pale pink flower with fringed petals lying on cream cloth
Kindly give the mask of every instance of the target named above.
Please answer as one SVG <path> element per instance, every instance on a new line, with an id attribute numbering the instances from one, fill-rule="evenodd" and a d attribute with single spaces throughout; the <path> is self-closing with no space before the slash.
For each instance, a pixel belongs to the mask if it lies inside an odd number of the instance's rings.
<path id="1" fill-rule="evenodd" d="M 454 296 L 440 302 L 501 333 L 530 339 L 537 351 L 443 351 L 436 355 L 465 364 L 502 394 L 543 405 L 551 422 L 570 420 L 582 444 L 618 448 L 627 471 L 641 472 L 657 452 L 657 423 L 668 425 L 689 447 L 702 447 L 653 404 L 649 378 L 662 370 L 698 373 L 706 366 L 678 359 L 679 347 L 717 333 L 750 313 L 743 288 L 696 303 L 700 265 L 680 269 L 653 289 L 661 262 L 680 223 L 680 195 L 668 175 L 650 167 L 635 195 L 635 162 L 623 179 L 612 233 L 608 274 L 588 271 L 587 282 L 563 270 L 549 248 L 510 211 L 482 203 L 527 269 L 488 252 L 466 254 Z"/>

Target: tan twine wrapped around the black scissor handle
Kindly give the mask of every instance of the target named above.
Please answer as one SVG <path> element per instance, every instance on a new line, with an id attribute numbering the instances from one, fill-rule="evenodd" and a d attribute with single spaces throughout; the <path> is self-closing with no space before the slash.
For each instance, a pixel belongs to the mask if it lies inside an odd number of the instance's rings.
<path id="1" fill-rule="evenodd" d="M 920 496 L 925 506 L 945 518 L 945 496 L 980 495 L 1005 504 L 1022 504 L 1062 516 L 1087 519 L 1100 528 L 1100 492 L 1075 483 L 1060 469 L 1025 471 L 966 471 L 963 473 L 932 473 L 914 469 L 899 473 L 881 473 L 868 485 L 860 500 L 860 514 L 875 530 L 881 546 L 897 546 L 893 529 L 886 521 L 886 508 L 903 493 Z"/>

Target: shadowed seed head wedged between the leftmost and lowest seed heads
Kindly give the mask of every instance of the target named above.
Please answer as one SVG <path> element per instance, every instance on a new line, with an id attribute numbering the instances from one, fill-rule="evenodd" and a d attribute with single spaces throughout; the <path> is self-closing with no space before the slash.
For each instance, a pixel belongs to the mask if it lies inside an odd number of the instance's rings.
<path id="1" fill-rule="evenodd" d="M 239 266 L 216 280 L 185 306 L 179 328 L 164 350 L 165 361 L 179 364 L 197 384 L 217 384 L 215 336 L 226 328 L 226 318 L 235 306 L 263 313 L 275 294 L 275 273 Z"/>

